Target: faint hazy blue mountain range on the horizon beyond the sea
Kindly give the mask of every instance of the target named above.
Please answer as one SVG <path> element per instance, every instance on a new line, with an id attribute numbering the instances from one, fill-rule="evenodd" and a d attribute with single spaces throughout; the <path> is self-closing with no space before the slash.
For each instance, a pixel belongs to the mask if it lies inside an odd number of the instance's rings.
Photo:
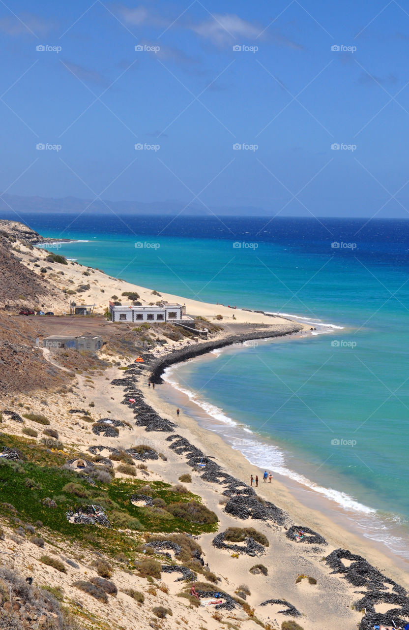
<path id="1" fill-rule="evenodd" d="M 22 197 L 21 195 L 1 195 L 0 212 L 98 212 L 98 214 L 109 213 L 111 210 L 116 214 L 141 214 L 141 215 L 170 215 L 174 216 L 182 212 L 183 215 L 190 216 L 269 216 L 273 214 L 269 210 L 257 207 L 210 207 L 208 210 L 202 203 L 186 203 L 181 201 L 143 203 L 137 201 L 109 201 L 79 199 L 78 197 L 62 197 L 53 199 L 48 197 Z"/>

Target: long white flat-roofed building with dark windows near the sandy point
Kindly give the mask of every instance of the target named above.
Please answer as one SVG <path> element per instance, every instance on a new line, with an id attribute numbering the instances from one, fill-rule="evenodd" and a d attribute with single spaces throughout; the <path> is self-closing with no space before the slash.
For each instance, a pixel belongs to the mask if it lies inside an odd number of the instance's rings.
<path id="1" fill-rule="evenodd" d="M 193 318 L 186 315 L 186 307 L 181 304 L 161 302 L 158 306 L 115 306 L 109 302 L 109 312 L 112 321 L 185 323 L 194 328 Z"/>

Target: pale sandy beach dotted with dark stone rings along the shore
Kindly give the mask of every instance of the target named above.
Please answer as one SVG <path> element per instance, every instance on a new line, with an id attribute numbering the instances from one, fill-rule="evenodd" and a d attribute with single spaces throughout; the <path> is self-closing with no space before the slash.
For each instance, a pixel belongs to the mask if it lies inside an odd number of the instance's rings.
<path id="1" fill-rule="evenodd" d="M 34 265 L 33 256 L 41 258 L 47 255 L 42 251 L 33 253 L 33 249 L 23 244 L 20 249 L 21 262 L 28 268 Z M 40 264 L 36 265 L 35 273 L 43 275 Z M 54 262 L 47 280 L 55 287 L 55 295 L 49 297 L 49 303 L 56 314 L 63 314 L 66 307 L 64 298 L 60 297 L 60 302 L 57 300 L 58 290 L 61 295 L 64 287 L 78 286 L 84 281 L 84 273 L 87 274 L 89 292 L 82 292 L 80 300 L 89 304 L 93 299 L 97 302 L 98 297 L 100 312 L 106 308 L 107 296 L 119 296 L 128 290 L 136 290 L 143 303 L 152 301 L 150 289 L 135 287 L 81 265 Z M 101 294 L 104 294 L 103 298 Z M 139 342 L 131 341 L 135 338 L 131 326 L 109 323 L 98 315 L 82 324 L 93 331 L 100 329 L 109 340 L 108 345 L 99 351 L 98 360 L 83 358 L 76 364 L 70 352 L 57 350 L 52 354 L 27 345 L 27 352 L 41 355 L 52 377 L 59 376 L 66 384 L 59 389 L 48 387 L 46 395 L 40 387 L 28 393 L 14 389 L 13 393 L 6 394 L 2 401 L 1 430 L 3 435 L 23 440 L 23 444 L 27 440 L 26 435 L 38 435 L 36 418 L 47 415 L 51 419 L 48 423 L 58 436 L 57 447 L 53 450 L 61 454 L 62 461 L 67 461 L 67 458 L 73 461 L 75 457 L 90 458 L 90 466 L 94 466 L 94 456 L 97 462 L 98 457 L 102 457 L 106 466 L 109 464 L 115 471 L 116 483 L 132 483 L 135 480 L 135 483 L 147 484 L 144 486 L 147 492 L 151 491 L 149 483 L 160 482 L 167 488 L 175 488 L 181 476 L 190 476 L 190 481 L 186 482 L 189 491 L 215 513 L 217 525 L 211 532 L 194 537 L 201 546 L 200 558 L 205 575 L 208 571 L 208 579 L 213 583 L 206 583 L 204 579 L 200 581 L 199 569 L 197 577 L 192 574 L 188 579 L 197 579 L 201 584 L 198 588 L 203 602 L 212 598 L 217 600 L 219 594 L 221 608 L 216 610 L 212 604 L 197 608 L 186 597 L 186 592 L 182 592 L 186 584 L 177 582 L 172 571 L 188 570 L 188 567 L 183 563 L 174 564 L 171 572 L 167 571 L 169 563 L 179 563 L 173 552 L 163 556 L 150 550 L 157 561 L 162 562 L 159 582 L 152 578 L 147 581 L 138 573 L 136 567 L 149 549 L 144 547 L 149 532 L 143 527 L 120 530 L 138 543 L 135 547 L 137 551 L 132 552 L 132 557 L 126 560 L 128 565 L 124 567 L 123 558 L 113 556 L 109 548 L 104 549 L 103 554 L 98 552 L 99 555 L 89 550 L 84 554 L 81 544 L 55 537 L 48 530 L 43 534 L 43 548 L 39 549 L 30 539 L 19 539 L 14 534 L 12 522 L 4 524 L 4 540 L 0 546 L 4 548 L 4 553 L 11 554 L 14 568 L 18 568 L 22 575 L 30 573 L 36 583 L 46 580 L 52 587 L 62 588 L 64 601 L 75 607 L 80 596 L 77 581 L 73 580 L 94 576 L 98 557 L 106 557 L 106 561 L 113 565 L 118 596 L 112 597 L 109 606 L 103 605 L 102 610 L 101 604 L 96 604 L 96 600 L 86 593 L 81 593 L 79 602 L 81 610 L 86 610 L 86 614 L 92 615 L 100 624 L 89 627 L 104 630 L 108 627 L 121 630 L 147 626 L 176 630 L 181 623 L 193 630 L 219 630 L 221 627 L 237 630 L 254 627 L 256 619 L 257 624 L 266 630 L 279 630 L 286 627 L 281 624 L 290 617 L 298 626 L 288 627 L 296 630 L 327 630 L 330 625 L 341 625 L 347 630 L 356 627 L 369 630 L 379 619 L 387 621 L 392 615 L 399 620 L 406 617 L 409 603 L 404 589 L 409 587 L 409 581 L 403 563 L 345 529 L 342 518 L 331 518 L 327 506 L 320 505 L 317 498 L 311 500 L 311 495 L 307 497 L 305 488 L 296 487 L 296 484 L 290 487 L 278 476 L 272 479 L 272 483 L 263 483 L 262 469 L 250 466 L 239 450 L 233 449 L 218 435 L 218 432 L 223 433 L 222 427 L 215 430 L 215 421 L 206 417 L 202 409 L 196 408 L 187 396 L 162 382 L 165 367 L 182 360 L 202 354 L 204 358 L 200 360 L 211 360 L 208 354 L 211 350 L 232 343 L 240 345 L 245 340 L 256 338 L 276 337 L 273 343 L 285 344 L 288 335 L 293 335 L 296 343 L 298 336 L 303 338 L 311 334 L 310 326 L 262 313 L 184 301 L 182 297 L 169 294 L 162 294 L 160 298 L 186 303 L 188 314 L 205 317 L 210 323 L 214 321 L 215 314 L 220 313 L 223 319 L 216 321 L 223 328 L 215 328 L 209 340 L 183 336 L 172 340 L 160 333 L 158 328 L 155 329 L 155 345 L 141 349 Z M 8 325 L 14 325 L 18 316 L 10 312 L 6 318 Z M 20 321 L 26 321 L 28 327 L 30 322 L 35 326 L 41 324 L 44 330 L 47 329 L 47 321 L 50 321 L 48 328 L 53 331 L 58 326 L 77 329 L 80 325 L 77 320 L 65 316 L 52 320 L 16 320 L 17 323 Z M 138 352 L 143 355 L 143 363 L 135 364 L 133 361 Z M 156 387 L 149 387 L 149 382 Z M 181 408 L 179 416 L 176 414 L 177 406 Z M 30 414 L 24 415 L 26 420 L 18 414 L 24 409 L 30 410 Z M 84 415 L 84 410 L 89 409 L 90 418 Z M 77 416 L 77 413 L 82 415 Z M 17 414 L 20 420 L 16 420 L 13 414 Z M 92 422 L 92 426 L 88 422 Z M 101 426 L 111 425 L 119 428 L 101 433 Z M 43 439 L 33 440 L 33 449 L 38 448 L 38 444 L 42 444 L 40 449 L 43 449 L 46 446 Z M 129 457 L 133 447 L 151 450 L 155 457 L 130 473 L 126 467 L 121 468 L 120 461 L 112 455 L 128 452 Z M 50 454 L 53 452 L 48 450 Z M 250 487 L 250 474 L 259 475 L 257 488 Z M 149 496 L 147 498 L 150 500 Z M 56 495 L 55 499 L 56 507 L 58 501 L 66 500 L 64 495 Z M 143 509 L 148 505 L 145 499 L 133 505 Z M 163 507 L 165 502 L 162 501 L 161 505 Z M 158 509 L 159 513 L 164 513 L 162 508 Z M 110 513 L 108 503 L 108 515 Z M 169 518 L 169 513 L 166 514 Z M 249 530 L 252 534 L 234 545 L 225 538 L 230 528 L 239 532 Z M 164 540 L 166 536 L 162 536 Z M 64 562 L 68 562 L 68 558 L 69 568 L 57 573 L 54 569 L 45 569 L 43 549 L 56 554 Z M 201 570 L 200 564 L 193 566 Z M 127 593 L 130 587 L 143 593 L 145 604 L 135 607 L 135 602 Z M 172 615 L 169 614 L 162 624 L 155 619 L 152 621 L 150 611 L 157 604 L 172 610 Z"/>

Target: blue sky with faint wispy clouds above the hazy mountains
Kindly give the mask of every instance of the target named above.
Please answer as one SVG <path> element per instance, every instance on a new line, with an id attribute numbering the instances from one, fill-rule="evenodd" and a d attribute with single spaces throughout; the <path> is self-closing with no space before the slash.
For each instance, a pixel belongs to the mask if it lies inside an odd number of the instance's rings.
<path id="1" fill-rule="evenodd" d="M 408 217 L 408 0 L 14 1 L 0 32 L 8 194 Z"/>

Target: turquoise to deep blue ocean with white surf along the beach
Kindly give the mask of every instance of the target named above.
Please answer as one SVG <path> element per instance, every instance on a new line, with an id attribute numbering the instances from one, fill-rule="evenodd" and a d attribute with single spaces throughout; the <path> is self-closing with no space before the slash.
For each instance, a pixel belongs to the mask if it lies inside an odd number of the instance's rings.
<path id="1" fill-rule="evenodd" d="M 409 559 L 409 221 L 20 220 L 56 241 L 79 239 L 59 253 L 109 275 L 310 323 L 301 339 L 226 348 L 165 379 L 251 464 L 325 497 L 364 536 Z"/>

